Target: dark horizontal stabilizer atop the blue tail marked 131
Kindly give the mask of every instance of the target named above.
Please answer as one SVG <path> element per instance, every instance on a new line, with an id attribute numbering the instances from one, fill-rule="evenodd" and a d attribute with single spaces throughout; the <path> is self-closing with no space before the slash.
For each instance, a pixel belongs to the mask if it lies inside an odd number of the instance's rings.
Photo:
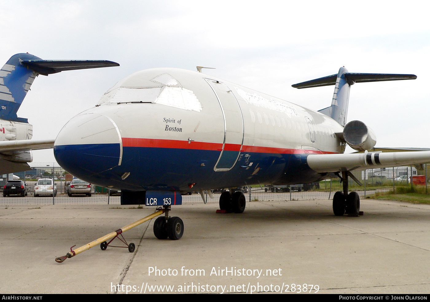
<path id="1" fill-rule="evenodd" d="M 46 76 L 65 70 L 120 66 L 118 63 L 105 60 L 22 60 L 21 63 L 27 68 Z"/>

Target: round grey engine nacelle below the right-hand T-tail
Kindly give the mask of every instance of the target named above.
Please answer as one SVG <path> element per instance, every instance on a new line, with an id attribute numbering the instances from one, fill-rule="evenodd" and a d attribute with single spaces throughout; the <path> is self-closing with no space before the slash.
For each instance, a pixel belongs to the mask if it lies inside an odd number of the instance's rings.
<path id="1" fill-rule="evenodd" d="M 372 149 L 376 144 L 376 135 L 363 122 L 351 121 L 344 127 L 344 140 L 354 150 Z"/>

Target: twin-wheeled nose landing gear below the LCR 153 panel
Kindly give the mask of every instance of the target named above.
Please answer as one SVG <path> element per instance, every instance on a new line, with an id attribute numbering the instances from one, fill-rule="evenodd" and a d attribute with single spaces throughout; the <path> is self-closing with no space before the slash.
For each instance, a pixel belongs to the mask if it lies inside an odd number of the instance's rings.
<path id="1" fill-rule="evenodd" d="M 179 217 L 169 217 L 170 206 L 164 206 L 164 216 L 158 217 L 154 222 L 154 235 L 158 239 L 178 240 L 184 234 L 184 223 Z"/>

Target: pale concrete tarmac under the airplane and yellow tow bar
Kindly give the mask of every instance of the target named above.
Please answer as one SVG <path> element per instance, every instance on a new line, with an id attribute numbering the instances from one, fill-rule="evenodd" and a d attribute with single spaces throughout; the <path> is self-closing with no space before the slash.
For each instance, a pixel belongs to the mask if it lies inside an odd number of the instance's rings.
<path id="1" fill-rule="evenodd" d="M 155 210 L 130 207 L 2 206 L 0 292 L 430 293 L 430 205 L 371 199 L 361 217 L 334 216 L 329 200 L 252 201 L 243 214 L 189 201 L 171 212 L 184 221 L 178 241 L 155 238 L 152 220 L 123 234 L 134 253 L 55 262 Z"/>

